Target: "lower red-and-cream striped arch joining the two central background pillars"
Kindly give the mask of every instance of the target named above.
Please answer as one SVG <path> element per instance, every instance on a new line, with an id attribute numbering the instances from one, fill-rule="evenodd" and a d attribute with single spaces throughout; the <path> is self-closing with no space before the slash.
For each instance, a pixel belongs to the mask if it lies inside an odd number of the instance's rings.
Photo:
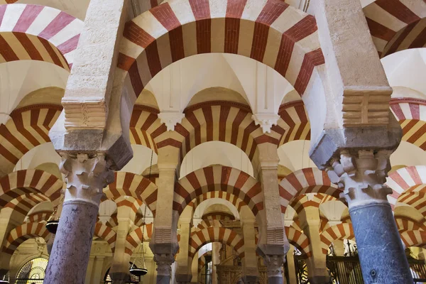
<path id="1" fill-rule="evenodd" d="M 196 197 L 213 191 L 239 197 L 255 216 L 263 209 L 261 183 L 241 170 L 222 165 L 195 170 L 176 182 L 173 209 L 181 214 Z"/>

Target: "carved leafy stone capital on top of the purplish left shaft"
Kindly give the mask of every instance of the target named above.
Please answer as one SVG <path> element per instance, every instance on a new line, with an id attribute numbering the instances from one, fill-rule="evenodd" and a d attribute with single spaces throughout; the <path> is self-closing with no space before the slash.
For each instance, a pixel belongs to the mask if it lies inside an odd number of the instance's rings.
<path id="1" fill-rule="evenodd" d="M 102 153 L 60 153 L 60 171 L 65 175 L 65 200 L 89 202 L 99 206 L 102 189 L 114 181 L 114 172 Z"/>

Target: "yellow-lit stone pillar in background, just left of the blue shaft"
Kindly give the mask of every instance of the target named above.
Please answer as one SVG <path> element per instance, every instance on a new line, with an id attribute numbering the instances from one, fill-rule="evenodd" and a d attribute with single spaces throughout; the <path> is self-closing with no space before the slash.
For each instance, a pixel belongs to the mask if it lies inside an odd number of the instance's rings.
<path id="1" fill-rule="evenodd" d="M 305 207 L 298 214 L 300 227 L 310 239 L 312 256 L 307 259 L 308 278 L 312 284 L 328 283 L 326 255 L 322 253 L 320 239 L 320 211 L 317 207 Z"/>

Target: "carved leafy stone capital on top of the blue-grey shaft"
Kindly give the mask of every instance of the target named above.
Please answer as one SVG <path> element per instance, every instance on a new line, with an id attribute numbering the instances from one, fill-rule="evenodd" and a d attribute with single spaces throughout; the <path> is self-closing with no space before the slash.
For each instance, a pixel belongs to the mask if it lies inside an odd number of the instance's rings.
<path id="1" fill-rule="evenodd" d="M 392 151 L 341 151 L 340 158 L 331 160 L 327 173 L 333 183 L 344 188 L 342 199 L 349 207 L 371 202 L 388 202 L 391 188 L 384 185 L 391 170 Z"/>

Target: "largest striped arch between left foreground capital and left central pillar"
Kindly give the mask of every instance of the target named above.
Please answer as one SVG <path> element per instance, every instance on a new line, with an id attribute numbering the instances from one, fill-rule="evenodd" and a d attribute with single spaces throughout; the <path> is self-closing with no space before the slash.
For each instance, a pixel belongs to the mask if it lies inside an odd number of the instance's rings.
<path id="1" fill-rule="evenodd" d="M 120 197 L 129 196 L 142 200 L 155 216 L 157 186 L 151 180 L 134 173 L 116 172 L 114 175 L 114 182 L 104 190 L 106 198 L 117 200 Z"/>

